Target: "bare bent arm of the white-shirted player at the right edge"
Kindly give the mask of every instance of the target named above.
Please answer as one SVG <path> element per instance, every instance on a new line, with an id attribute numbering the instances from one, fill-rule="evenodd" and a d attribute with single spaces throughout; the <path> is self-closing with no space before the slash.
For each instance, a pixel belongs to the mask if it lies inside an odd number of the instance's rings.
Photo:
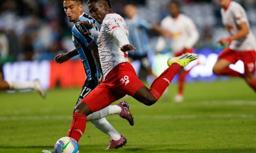
<path id="1" fill-rule="evenodd" d="M 232 40 L 239 40 L 242 39 L 243 37 L 246 37 L 249 34 L 249 27 L 246 24 L 246 22 L 242 22 L 241 24 L 238 24 L 238 28 L 240 29 L 236 34 L 225 38 L 221 39 L 219 42 L 221 45 L 225 45 L 230 43 Z"/>

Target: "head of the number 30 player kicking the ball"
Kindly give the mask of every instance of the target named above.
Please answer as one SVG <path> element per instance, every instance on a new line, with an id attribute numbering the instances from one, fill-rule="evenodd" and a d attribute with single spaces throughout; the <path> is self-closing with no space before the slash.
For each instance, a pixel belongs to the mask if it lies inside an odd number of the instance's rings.
<path id="1" fill-rule="evenodd" d="M 111 11 L 110 0 L 88 0 L 88 9 L 93 18 L 97 20 L 98 23 L 102 23 L 106 14 Z"/>

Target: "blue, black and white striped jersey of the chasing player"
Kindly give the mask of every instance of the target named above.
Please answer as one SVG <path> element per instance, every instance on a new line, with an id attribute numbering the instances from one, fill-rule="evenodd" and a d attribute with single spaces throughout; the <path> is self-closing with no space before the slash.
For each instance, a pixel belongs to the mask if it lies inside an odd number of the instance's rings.
<path id="1" fill-rule="evenodd" d="M 90 42 L 97 42 L 97 37 L 84 35 L 85 32 L 88 32 L 84 25 L 80 24 L 80 21 L 89 22 L 93 25 L 93 28 L 98 31 L 98 27 L 96 21 L 88 14 L 83 13 L 79 19 L 76 21 L 75 25 L 72 28 L 73 35 L 73 44 L 76 47 L 77 52 L 84 64 L 84 69 L 86 73 L 86 78 L 88 80 L 91 79 L 99 79 L 101 76 L 100 67 L 97 64 L 96 58 L 94 58 L 93 53 L 88 49 L 88 45 Z"/>

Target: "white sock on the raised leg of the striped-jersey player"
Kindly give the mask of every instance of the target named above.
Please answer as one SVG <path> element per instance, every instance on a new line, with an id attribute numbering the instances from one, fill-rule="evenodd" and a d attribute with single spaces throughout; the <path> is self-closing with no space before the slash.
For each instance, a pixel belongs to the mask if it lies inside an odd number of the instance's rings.
<path id="1" fill-rule="evenodd" d="M 101 109 L 100 111 L 93 112 L 92 114 L 89 114 L 87 116 L 87 121 L 100 120 L 101 118 L 104 118 L 111 114 L 120 114 L 121 111 L 122 111 L 122 109 L 118 105 L 109 105 L 108 107 L 105 107 L 104 109 Z"/>

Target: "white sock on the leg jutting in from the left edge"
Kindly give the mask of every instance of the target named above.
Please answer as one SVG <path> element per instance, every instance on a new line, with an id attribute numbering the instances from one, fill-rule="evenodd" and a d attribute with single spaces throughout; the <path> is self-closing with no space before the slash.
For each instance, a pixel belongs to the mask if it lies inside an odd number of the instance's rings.
<path id="1" fill-rule="evenodd" d="M 26 90 L 26 89 L 34 89 L 35 83 L 33 81 L 29 82 L 19 82 L 17 80 L 7 81 L 10 86 L 10 90 Z"/>

